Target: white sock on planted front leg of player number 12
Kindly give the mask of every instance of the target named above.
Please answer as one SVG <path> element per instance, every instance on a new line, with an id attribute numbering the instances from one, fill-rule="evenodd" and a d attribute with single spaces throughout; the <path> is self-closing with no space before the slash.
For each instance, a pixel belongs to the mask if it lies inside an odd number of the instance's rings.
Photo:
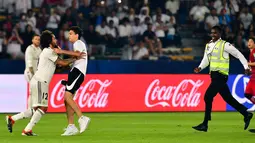
<path id="1" fill-rule="evenodd" d="M 32 116 L 30 122 L 27 124 L 25 131 L 30 131 L 32 130 L 32 128 L 35 126 L 36 123 L 38 123 L 40 121 L 40 119 L 42 118 L 42 116 L 44 115 L 44 111 L 42 111 L 41 109 L 37 109 L 34 113 L 34 115 Z"/>

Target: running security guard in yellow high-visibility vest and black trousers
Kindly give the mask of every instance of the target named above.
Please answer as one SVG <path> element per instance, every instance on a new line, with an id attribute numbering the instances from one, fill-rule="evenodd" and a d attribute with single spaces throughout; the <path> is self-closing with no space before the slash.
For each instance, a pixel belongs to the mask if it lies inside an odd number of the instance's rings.
<path id="1" fill-rule="evenodd" d="M 233 98 L 228 88 L 227 81 L 229 73 L 229 54 L 240 60 L 245 68 L 245 73 L 249 72 L 247 60 L 233 45 L 220 38 L 221 28 L 219 26 L 214 26 L 211 29 L 211 37 L 212 40 L 206 44 L 203 60 L 199 67 L 194 69 L 195 73 L 199 73 L 210 64 L 211 84 L 207 88 L 204 96 L 206 106 L 204 121 L 198 126 L 194 126 L 192 128 L 198 131 L 207 132 L 208 121 L 211 120 L 213 98 L 217 95 L 217 93 L 220 93 L 222 98 L 229 105 L 234 107 L 244 116 L 244 130 L 246 130 L 250 124 L 253 114 L 247 112 L 247 108 Z"/>

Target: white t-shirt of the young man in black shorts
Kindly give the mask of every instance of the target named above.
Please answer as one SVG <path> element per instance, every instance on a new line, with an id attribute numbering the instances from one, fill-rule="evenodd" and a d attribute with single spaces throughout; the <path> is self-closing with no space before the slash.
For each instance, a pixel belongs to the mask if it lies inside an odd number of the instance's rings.
<path id="1" fill-rule="evenodd" d="M 82 59 L 76 60 L 73 64 L 73 67 L 76 67 L 85 75 L 87 71 L 87 64 L 88 64 L 87 48 L 85 43 L 83 43 L 81 40 L 77 40 L 73 44 L 73 50 L 86 53 L 86 55 L 84 55 Z"/>

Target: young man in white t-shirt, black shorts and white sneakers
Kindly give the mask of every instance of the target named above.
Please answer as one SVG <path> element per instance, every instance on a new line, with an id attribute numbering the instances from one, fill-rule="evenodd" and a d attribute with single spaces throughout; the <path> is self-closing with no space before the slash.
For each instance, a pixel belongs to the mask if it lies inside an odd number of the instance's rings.
<path id="1" fill-rule="evenodd" d="M 84 77 L 87 70 L 87 49 L 85 43 L 80 39 L 82 35 L 81 28 L 73 26 L 69 29 L 69 41 L 73 43 L 74 52 L 84 52 L 84 58 L 74 62 L 70 72 L 68 73 L 68 81 L 66 83 L 66 91 L 64 95 L 64 102 L 67 112 L 68 126 L 62 136 L 71 136 L 78 133 L 78 129 L 74 124 L 74 112 L 77 114 L 80 126 L 80 133 L 84 132 L 90 122 L 90 118 L 83 116 L 80 108 L 73 100 L 75 92 L 80 88 L 80 85 L 84 81 Z M 56 49 L 59 54 L 65 54 L 66 51 Z"/>

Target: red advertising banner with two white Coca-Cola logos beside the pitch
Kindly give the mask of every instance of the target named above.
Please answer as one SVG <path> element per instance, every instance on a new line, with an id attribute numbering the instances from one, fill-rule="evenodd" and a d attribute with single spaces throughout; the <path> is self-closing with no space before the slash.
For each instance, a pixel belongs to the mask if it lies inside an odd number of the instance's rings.
<path id="1" fill-rule="evenodd" d="M 48 112 L 65 112 L 61 80 L 50 83 Z M 195 74 L 89 74 L 74 100 L 83 112 L 204 111 L 204 93 L 209 75 Z M 226 111 L 216 96 L 213 111 Z"/>

